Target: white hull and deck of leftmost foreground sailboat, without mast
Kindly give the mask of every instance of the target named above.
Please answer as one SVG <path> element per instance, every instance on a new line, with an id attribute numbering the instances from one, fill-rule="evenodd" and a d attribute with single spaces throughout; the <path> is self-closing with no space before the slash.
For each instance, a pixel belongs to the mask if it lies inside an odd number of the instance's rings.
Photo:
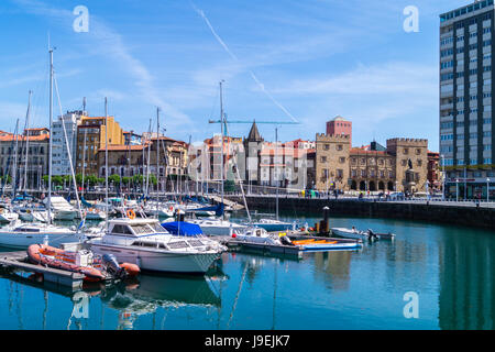
<path id="1" fill-rule="evenodd" d="M 50 243 L 59 246 L 63 243 L 80 242 L 84 235 L 75 227 L 65 228 L 48 223 L 23 223 L 20 220 L 0 229 L 0 246 L 28 249 L 31 244 Z"/>

